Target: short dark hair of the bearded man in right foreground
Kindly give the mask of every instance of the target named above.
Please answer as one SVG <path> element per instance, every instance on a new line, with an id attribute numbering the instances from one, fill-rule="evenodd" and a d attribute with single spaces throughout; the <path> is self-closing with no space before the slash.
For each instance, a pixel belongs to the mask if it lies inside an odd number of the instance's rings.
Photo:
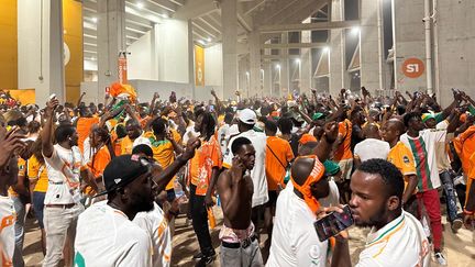
<path id="1" fill-rule="evenodd" d="M 363 162 L 357 170 L 366 174 L 379 175 L 386 187 L 386 196 L 396 196 L 402 200 L 405 187 L 404 177 L 394 164 L 380 158 L 373 158 Z"/>

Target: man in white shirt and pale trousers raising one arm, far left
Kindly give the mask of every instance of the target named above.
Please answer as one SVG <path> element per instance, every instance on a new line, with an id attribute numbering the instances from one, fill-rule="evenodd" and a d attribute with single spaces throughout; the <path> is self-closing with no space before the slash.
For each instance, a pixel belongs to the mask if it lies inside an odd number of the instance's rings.
<path id="1" fill-rule="evenodd" d="M 48 188 L 44 201 L 46 256 L 43 266 L 49 267 L 58 266 L 65 246 L 67 252 L 74 251 L 77 218 L 84 207 L 79 192 L 82 157 L 77 147 L 78 134 L 73 125 L 62 124 L 54 131 L 57 143 L 53 145 L 53 118 L 58 100 L 54 98 L 46 105 L 42 153 L 48 174 Z M 71 255 L 65 255 L 65 265 L 71 264 Z"/>

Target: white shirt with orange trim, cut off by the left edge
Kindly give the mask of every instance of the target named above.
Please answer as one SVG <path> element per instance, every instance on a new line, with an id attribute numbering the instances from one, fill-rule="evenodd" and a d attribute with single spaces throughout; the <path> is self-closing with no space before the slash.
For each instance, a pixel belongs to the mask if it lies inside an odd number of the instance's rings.
<path id="1" fill-rule="evenodd" d="M 15 211 L 10 197 L 0 196 L 0 266 L 13 266 Z M 4 260 L 4 262 L 3 262 Z"/>

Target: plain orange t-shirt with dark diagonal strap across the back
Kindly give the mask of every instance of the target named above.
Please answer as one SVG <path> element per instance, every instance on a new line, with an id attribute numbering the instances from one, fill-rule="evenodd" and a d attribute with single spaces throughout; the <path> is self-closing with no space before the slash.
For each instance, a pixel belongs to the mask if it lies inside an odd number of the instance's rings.
<path id="1" fill-rule="evenodd" d="M 286 167 L 291 159 L 294 159 L 294 153 L 287 141 L 277 136 L 267 137 L 265 168 L 269 191 L 277 190 L 278 183 L 284 187 Z"/>

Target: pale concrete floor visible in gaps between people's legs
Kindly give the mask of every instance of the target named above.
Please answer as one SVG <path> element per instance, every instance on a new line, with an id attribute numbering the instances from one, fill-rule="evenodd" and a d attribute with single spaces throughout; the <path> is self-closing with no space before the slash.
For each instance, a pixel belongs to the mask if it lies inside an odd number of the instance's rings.
<path id="1" fill-rule="evenodd" d="M 219 253 L 219 225 L 221 224 L 222 213 L 221 210 L 214 208 L 218 226 L 211 231 L 213 246 Z M 442 219 L 444 224 L 444 255 L 448 258 L 450 267 L 473 267 L 475 266 L 475 234 L 474 232 L 462 229 L 457 234 L 453 234 L 450 225 L 446 223 L 445 218 Z M 355 264 L 358 258 L 360 252 L 364 248 L 367 229 L 353 227 L 350 231 L 350 248 L 352 255 L 352 263 Z M 262 247 L 266 235 L 262 235 Z M 173 248 L 173 263 L 172 266 L 194 266 L 195 262 L 191 257 L 198 252 L 198 242 L 195 232 L 190 225 L 186 225 L 186 219 L 180 215 L 176 221 L 175 237 Z M 266 255 L 266 252 L 263 252 Z M 24 259 L 26 266 L 41 266 L 43 255 L 41 253 L 40 244 L 40 230 L 37 224 L 29 219 L 26 223 L 26 235 L 24 242 Z M 212 266 L 219 266 L 214 260 Z M 432 266 L 438 266 L 432 262 Z"/>

